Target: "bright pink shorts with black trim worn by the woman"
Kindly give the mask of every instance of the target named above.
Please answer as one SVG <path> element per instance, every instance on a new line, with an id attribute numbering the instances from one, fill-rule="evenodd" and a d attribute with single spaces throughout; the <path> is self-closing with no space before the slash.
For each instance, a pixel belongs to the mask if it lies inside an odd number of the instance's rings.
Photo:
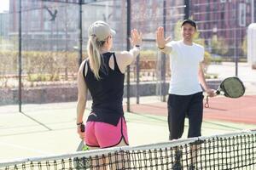
<path id="1" fill-rule="evenodd" d="M 108 148 L 118 145 L 122 139 L 128 145 L 127 127 L 124 117 L 117 126 L 106 122 L 86 122 L 85 143 L 90 147 Z"/>

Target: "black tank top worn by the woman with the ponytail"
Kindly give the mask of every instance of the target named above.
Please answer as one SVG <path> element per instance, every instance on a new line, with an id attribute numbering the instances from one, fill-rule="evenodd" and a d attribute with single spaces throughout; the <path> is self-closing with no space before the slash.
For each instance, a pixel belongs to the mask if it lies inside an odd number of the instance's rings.
<path id="1" fill-rule="evenodd" d="M 109 59 L 113 56 L 114 70 L 109 67 Z M 88 71 L 84 81 L 92 97 L 91 113 L 87 122 L 107 122 L 116 126 L 119 118 L 124 116 L 123 94 L 125 74 L 119 71 L 114 53 L 102 54 L 102 65 L 97 80 L 90 69 L 90 62 L 84 62 Z M 84 74 L 84 71 L 83 71 Z"/>

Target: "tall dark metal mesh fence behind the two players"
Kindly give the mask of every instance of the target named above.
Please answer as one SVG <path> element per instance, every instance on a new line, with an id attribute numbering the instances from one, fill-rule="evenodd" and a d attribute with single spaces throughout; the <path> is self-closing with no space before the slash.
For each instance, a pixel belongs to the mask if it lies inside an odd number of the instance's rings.
<path id="1" fill-rule="evenodd" d="M 0 105 L 75 101 L 87 28 L 96 20 L 107 21 L 117 32 L 113 50 L 130 48 L 131 28 L 143 32 L 142 52 L 128 70 L 125 96 L 137 96 L 137 102 L 140 95 L 165 100 L 171 75 L 168 57 L 155 47 L 157 27 L 164 26 L 166 36 L 177 40 L 181 20 L 193 18 L 199 28 L 196 42 L 212 61 L 236 62 L 237 68 L 238 61 L 247 59 L 247 26 L 254 8 L 253 0 L 10 0 L 9 12 L 1 14 Z"/>

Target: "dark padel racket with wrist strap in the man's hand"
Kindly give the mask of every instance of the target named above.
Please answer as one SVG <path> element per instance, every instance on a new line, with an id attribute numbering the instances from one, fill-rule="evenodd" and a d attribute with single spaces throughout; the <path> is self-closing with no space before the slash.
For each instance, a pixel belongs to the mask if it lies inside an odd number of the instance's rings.
<path id="1" fill-rule="evenodd" d="M 223 94 L 228 98 L 240 98 L 245 93 L 245 87 L 238 77 L 228 77 L 220 83 L 215 93 Z M 208 96 L 205 107 L 209 107 Z"/>

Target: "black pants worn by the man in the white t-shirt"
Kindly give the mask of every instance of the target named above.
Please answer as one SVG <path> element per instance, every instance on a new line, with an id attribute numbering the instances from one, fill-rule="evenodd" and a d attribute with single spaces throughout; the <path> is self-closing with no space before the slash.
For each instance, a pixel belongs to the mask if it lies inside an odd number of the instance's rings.
<path id="1" fill-rule="evenodd" d="M 189 117 L 188 137 L 201 136 L 203 98 L 202 92 L 191 95 L 169 94 L 168 126 L 170 140 L 182 137 L 186 116 Z"/>

